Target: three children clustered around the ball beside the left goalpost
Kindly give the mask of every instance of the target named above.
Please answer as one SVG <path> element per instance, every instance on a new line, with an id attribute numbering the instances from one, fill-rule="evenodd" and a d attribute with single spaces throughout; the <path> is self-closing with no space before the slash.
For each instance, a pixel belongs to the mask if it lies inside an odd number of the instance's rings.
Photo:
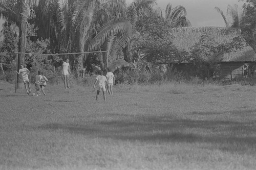
<path id="1" fill-rule="evenodd" d="M 17 72 L 17 71 L 16 71 Z M 23 80 L 23 83 L 25 85 L 25 89 L 29 95 L 31 95 L 31 88 L 30 88 L 30 82 L 29 82 L 29 75 L 30 71 L 28 68 L 24 67 L 23 65 L 20 65 L 20 69 L 17 72 L 18 75 L 20 75 L 20 78 Z M 42 72 L 39 70 L 36 77 L 35 77 L 35 89 L 36 92 L 32 93 L 33 96 L 38 96 L 40 95 L 40 89 L 44 95 L 46 95 L 45 92 L 45 87 L 46 87 L 46 82 L 48 79 L 42 75 Z M 28 86 L 28 87 L 27 87 Z"/>

